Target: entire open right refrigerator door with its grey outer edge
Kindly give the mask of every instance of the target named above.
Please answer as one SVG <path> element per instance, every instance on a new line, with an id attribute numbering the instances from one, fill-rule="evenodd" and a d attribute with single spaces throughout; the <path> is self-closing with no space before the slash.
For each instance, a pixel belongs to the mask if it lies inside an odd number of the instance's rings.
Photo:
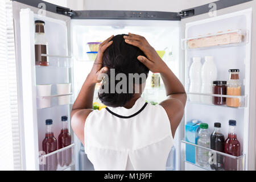
<path id="1" fill-rule="evenodd" d="M 209 169 L 209 167 L 201 167 L 197 163 L 189 163 L 185 156 L 186 146 L 193 146 L 194 150 L 199 148 L 185 141 L 184 126 L 193 119 L 208 123 L 210 133 L 213 131 L 214 122 L 221 122 L 222 134 L 225 138 L 228 137 L 229 119 L 236 119 L 237 137 L 241 143 L 242 152 L 241 156 L 236 159 L 237 164 L 242 165 L 241 170 L 255 169 L 256 65 L 253 60 L 256 58 L 254 34 L 256 32 L 256 20 L 252 19 L 255 16 L 255 10 L 255 1 L 217 1 L 189 9 L 188 18 L 181 18 L 181 36 L 183 36 L 181 39 L 181 48 L 183 49 L 181 57 L 183 56 L 184 60 L 184 86 L 188 94 L 184 122 L 181 124 L 183 125 L 181 136 L 184 138 L 181 141 L 181 169 Z M 225 39 L 227 40 L 225 42 L 222 38 L 227 35 L 236 35 L 238 39 L 235 42 L 232 42 L 232 39 Z M 217 67 L 215 79 L 217 80 L 228 81 L 229 69 L 240 69 L 242 96 L 239 98 L 239 107 L 218 106 L 202 101 L 202 96 L 212 98 L 212 94 L 196 93 L 200 98 L 199 101 L 191 101 L 191 96 L 195 96 L 195 93 L 189 92 L 191 88 L 189 69 L 192 58 L 201 57 L 203 64 L 205 56 L 214 57 L 214 63 Z M 188 153 L 186 152 L 186 154 Z M 194 158 L 197 159 L 196 156 Z"/>

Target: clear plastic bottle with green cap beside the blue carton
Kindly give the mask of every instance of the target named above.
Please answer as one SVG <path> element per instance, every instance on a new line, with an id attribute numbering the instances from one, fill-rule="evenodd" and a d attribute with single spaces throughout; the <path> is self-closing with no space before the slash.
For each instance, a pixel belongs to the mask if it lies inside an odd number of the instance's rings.
<path id="1" fill-rule="evenodd" d="M 197 145 L 210 148 L 210 134 L 207 123 L 200 123 L 199 139 Z M 197 147 L 196 162 L 201 167 L 205 167 L 209 163 L 209 150 Z"/>

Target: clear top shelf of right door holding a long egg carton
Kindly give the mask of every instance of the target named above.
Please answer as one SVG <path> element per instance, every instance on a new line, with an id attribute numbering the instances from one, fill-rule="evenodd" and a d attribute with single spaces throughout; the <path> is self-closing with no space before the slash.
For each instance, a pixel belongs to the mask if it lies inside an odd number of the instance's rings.
<path id="1" fill-rule="evenodd" d="M 212 47 L 240 46 L 248 43 L 249 31 L 228 30 L 214 34 L 200 35 L 193 38 L 181 39 L 181 49 L 208 49 Z"/>

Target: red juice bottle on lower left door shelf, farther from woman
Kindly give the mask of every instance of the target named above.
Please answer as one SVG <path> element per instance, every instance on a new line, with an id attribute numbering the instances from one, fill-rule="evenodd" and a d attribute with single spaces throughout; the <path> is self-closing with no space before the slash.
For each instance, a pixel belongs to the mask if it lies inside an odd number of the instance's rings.
<path id="1" fill-rule="evenodd" d="M 57 150 L 57 140 L 53 136 L 52 119 L 46 119 L 46 138 L 43 142 L 43 151 L 49 154 Z M 52 154 L 46 158 L 46 163 L 43 165 L 43 170 L 56 171 L 58 166 L 57 154 Z"/>

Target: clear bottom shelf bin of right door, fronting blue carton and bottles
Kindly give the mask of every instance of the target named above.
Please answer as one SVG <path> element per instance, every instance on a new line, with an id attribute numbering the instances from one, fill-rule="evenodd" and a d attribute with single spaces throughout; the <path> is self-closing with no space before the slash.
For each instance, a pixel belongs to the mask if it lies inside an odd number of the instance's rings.
<path id="1" fill-rule="evenodd" d="M 186 151 L 186 148 L 189 148 L 191 151 Z M 197 163 L 197 150 L 203 149 L 204 153 L 208 153 L 209 159 L 207 164 L 200 165 Z M 218 163 L 222 163 L 224 167 L 218 168 L 220 171 L 245 171 L 245 154 L 241 156 L 233 156 L 229 154 L 225 154 L 224 152 L 219 152 L 216 150 L 212 150 L 207 147 L 199 146 L 194 143 L 187 142 L 185 140 L 181 140 L 181 160 L 192 164 L 196 167 L 206 169 L 208 171 L 215 171 L 213 165 Z M 186 156 L 187 155 L 187 156 Z M 193 162 L 193 160 L 195 160 Z"/>

